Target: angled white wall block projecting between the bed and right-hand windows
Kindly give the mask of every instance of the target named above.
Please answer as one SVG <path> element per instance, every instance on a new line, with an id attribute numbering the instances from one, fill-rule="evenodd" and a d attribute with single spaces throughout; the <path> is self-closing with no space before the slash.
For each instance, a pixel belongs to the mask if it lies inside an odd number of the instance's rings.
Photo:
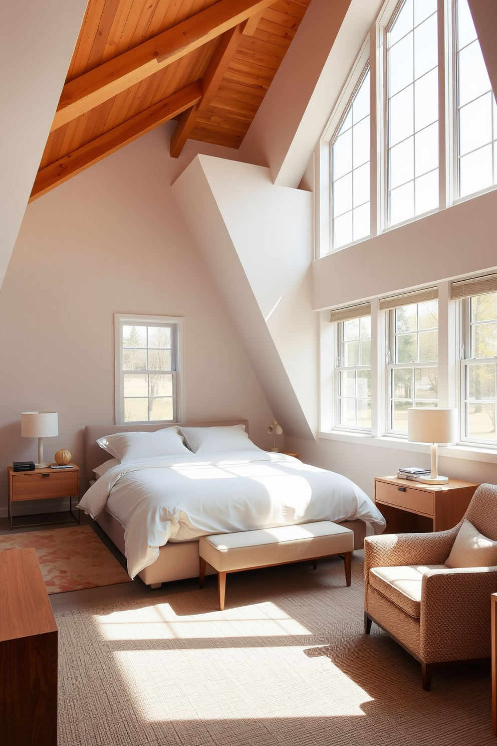
<path id="1" fill-rule="evenodd" d="M 288 436 L 312 438 L 311 195 L 274 186 L 262 166 L 201 155 L 173 192 L 276 419 Z"/>

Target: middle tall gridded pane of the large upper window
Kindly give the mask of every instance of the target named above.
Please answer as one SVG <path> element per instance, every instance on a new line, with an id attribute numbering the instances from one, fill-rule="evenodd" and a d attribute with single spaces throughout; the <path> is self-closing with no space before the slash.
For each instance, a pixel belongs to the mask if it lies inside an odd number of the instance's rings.
<path id="1" fill-rule="evenodd" d="M 387 32 L 388 224 L 439 205 L 437 0 L 405 0 Z"/>

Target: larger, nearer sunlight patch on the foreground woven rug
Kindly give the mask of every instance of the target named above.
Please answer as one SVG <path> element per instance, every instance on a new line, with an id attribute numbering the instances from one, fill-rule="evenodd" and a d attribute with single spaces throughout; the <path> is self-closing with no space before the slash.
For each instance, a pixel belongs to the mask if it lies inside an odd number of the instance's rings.
<path id="1" fill-rule="evenodd" d="M 116 651 L 133 708 L 146 721 L 364 715 L 372 701 L 309 647 Z"/>

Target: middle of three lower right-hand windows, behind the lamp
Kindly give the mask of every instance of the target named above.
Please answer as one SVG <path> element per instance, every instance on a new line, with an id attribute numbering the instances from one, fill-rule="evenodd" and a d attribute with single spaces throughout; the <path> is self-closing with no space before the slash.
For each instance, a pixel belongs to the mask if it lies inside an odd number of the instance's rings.
<path id="1" fill-rule="evenodd" d="M 388 327 L 388 430 L 405 434 L 409 407 L 437 407 L 437 289 L 381 301 Z"/>

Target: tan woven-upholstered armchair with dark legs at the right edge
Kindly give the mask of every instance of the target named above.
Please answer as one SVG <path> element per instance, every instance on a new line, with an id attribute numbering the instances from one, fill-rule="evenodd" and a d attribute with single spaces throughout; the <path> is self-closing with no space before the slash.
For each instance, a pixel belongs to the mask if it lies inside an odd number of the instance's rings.
<path id="1" fill-rule="evenodd" d="M 374 621 L 420 661 L 427 692 L 434 665 L 490 657 L 497 567 L 443 564 L 464 518 L 497 541 L 497 486 L 479 486 L 460 523 L 448 531 L 364 539 L 364 632 Z"/>

